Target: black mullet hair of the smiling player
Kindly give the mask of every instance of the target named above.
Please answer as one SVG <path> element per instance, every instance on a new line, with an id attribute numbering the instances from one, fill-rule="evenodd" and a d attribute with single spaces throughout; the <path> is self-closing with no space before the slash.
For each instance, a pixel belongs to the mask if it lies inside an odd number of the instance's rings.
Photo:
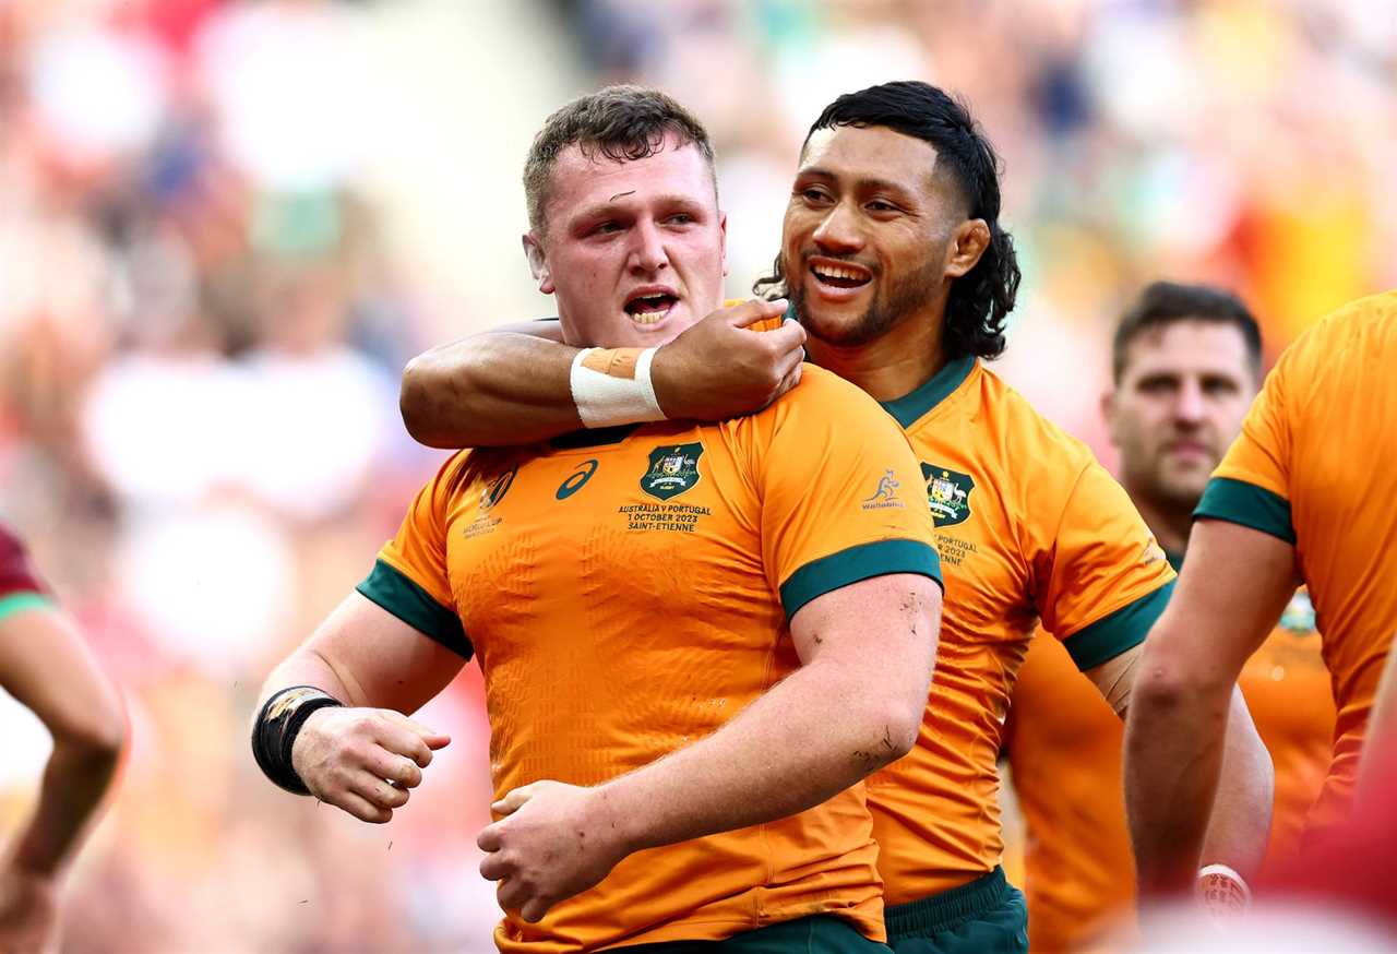
<path id="1" fill-rule="evenodd" d="M 1004 351 L 1004 323 L 1018 293 L 1018 258 L 1013 237 L 999 225 L 1003 163 L 970 110 L 933 85 L 902 80 L 844 94 L 814 120 L 806 142 L 816 130 L 835 126 L 884 126 L 923 140 L 936 149 L 936 165 L 950 169 L 965 197 L 968 217 L 985 219 L 989 226 L 989 246 L 974 268 L 951 282 L 942 348 L 947 360 L 965 355 L 999 358 Z M 781 256 L 774 274 L 757 279 L 753 291 L 763 298 L 785 295 Z"/>

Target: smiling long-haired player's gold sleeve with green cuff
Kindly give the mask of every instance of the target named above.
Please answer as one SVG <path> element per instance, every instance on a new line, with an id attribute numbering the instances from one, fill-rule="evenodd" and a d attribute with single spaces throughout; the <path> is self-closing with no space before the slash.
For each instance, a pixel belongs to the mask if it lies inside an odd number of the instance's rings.
<path id="1" fill-rule="evenodd" d="M 1173 591 L 1164 550 L 1095 460 L 1078 474 L 1038 563 L 1044 629 L 1083 672 L 1143 643 Z"/>

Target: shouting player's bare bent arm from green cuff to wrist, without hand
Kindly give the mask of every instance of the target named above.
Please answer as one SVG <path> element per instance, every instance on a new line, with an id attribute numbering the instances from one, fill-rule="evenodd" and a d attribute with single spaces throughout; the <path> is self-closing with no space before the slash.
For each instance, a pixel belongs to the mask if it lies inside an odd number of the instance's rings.
<path id="1" fill-rule="evenodd" d="M 602 786 L 633 851 L 782 819 L 911 751 L 940 605 L 933 581 L 894 574 L 803 606 L 800 669 L 707 739 Z"/>

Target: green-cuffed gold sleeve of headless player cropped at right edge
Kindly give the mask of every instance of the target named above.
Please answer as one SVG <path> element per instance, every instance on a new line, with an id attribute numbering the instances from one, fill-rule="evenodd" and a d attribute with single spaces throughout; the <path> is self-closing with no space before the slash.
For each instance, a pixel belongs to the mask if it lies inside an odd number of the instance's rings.
<path id="1" fill-rule="evenodd" d="M 1194 518 L 1225 520 L 1295 542 L 1291 522 L 1289 460 L 1292 408 L 1287 381 L 1296 353 L 1281 359 L 1242 423 L 1242 433 L 1213 472 Z"/>

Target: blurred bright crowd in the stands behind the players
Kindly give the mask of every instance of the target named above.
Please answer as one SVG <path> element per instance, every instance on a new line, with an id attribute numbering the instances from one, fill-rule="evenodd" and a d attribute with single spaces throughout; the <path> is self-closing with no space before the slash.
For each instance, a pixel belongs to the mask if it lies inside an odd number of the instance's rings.
<path id="1" fill-rule="evenodd" d="M 742 296 L 810 120 L 893 78 L 964 94 L 1003 155 L 1000 373 L 1108 464 L 1109 328 L 1144 282 L 1235 289 L 1270 356 L 1397 285 L 1390 4 L 0 0 L 0 518 L 134 736 L 68 950 L 489 948 L 474 666 L 387 827 L 275 791 L 246 740 L 443 457 L 402 430 L 402 365 L 552 313 L 520 170 L 573 95 L 648 82 L 708 124 Z M 0 698 L 0 834 L 45 754 Z"/>

